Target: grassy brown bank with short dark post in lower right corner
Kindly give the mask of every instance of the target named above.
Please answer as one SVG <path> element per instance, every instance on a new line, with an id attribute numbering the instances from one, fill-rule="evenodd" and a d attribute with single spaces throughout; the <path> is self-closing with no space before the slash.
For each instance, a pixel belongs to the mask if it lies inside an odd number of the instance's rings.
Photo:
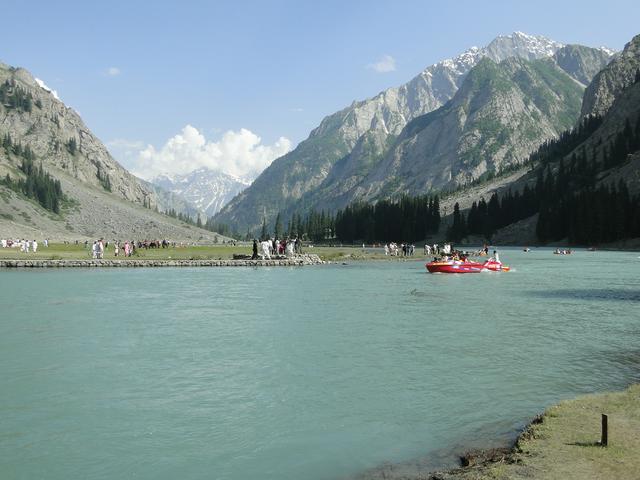
<path id="1" fill-rule="evenodd" d="M 600 446 L 601 414 L 608 446 Z M 587 395 L 549 408 L 520 435 L 511 451 L 472 453 L 466 467 L 424 479 L 640 479 L 640 385 Z"/>

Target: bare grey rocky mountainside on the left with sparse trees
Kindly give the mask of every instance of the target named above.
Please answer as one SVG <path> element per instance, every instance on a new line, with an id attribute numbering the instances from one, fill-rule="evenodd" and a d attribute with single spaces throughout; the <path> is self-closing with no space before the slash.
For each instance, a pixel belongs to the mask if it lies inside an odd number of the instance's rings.
<path id="1" fill-rule="evenodd" d="M 113 159 L 77 112 L 27 70 L 4 64 L 0 64 L 0 141 L 0 236 L 189 240 L 216 236 L 157 213 L 154 191 Z M 60 211 L 47 210 L 17 191 L 15 183 L 27 181 L 21 169 L 25 159 L 60 182 L 66 197 Z M 48 195 L 49 187 L 41 187 Z"/>

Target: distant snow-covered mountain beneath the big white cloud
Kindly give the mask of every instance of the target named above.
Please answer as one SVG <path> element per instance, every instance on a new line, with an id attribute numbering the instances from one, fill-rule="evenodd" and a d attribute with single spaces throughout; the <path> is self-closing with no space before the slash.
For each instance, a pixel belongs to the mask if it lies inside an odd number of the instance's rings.
<path id="1" fill-rule="evenodd" d="M 160 175 L 151 183 L 184 199 L 196 211 L 213 216 L 251 182 L 208 168 L 187 175 Z"/>

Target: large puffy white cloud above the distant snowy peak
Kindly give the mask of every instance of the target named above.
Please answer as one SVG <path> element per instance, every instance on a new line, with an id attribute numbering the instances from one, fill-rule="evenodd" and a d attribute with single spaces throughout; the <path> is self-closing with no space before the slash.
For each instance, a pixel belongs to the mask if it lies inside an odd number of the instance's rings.
<path id="1" fill-rule="evenodd" d="M 125 147 L 110 142 L 111 147 Z M 131 142 L 135 144 L 135 142 Z M 207 140 L 197 128 L 187 125 L 159 149 L 147 145 L 131 158 L 133 173 L 145 179 L 159 174 L 186 174 L 206 167 L 231 175 L 255 178 L 273 160 L 291 150 L 291 141 L 280 137 L 272 145 L 263 145 L 261 138 L 245 128 L 227 131 L 217 141 Z"/>

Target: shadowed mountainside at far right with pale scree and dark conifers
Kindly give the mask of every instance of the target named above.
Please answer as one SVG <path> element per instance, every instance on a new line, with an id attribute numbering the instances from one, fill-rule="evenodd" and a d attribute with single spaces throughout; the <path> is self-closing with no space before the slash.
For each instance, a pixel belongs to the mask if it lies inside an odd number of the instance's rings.
<path id="1" fill-rule="evenodd" d="M 443 202 L 444 208 L 451 212 L 457 202 L 461 210 L 467 210 L 472 202 L 489 199 L 494 192 L 504 204 L 505 197 L 514 192 L 524 195 L 528 187 L 541 198 L 529 203 L 535 206 L 527 213 L 530 216 L 516 216 L 494 235 L 496 244 L 553 241 L 593 246 L 615 242 L 616 247 L 638 248 L 639 46 L 640 36 L 636 36 L 587 87 L 582 112 L 589 113 L 596 106 L 594 113 L 600 118 L 581 120 L 582 133 L 579 128 L 566 132 L 555 147 L 538 157 L 539 163 L 529 173 L 459 192 Z M 595 128 L 585 128 L 587 123 Z M 538 188 L 541 179 L 547 180 Z"/>

